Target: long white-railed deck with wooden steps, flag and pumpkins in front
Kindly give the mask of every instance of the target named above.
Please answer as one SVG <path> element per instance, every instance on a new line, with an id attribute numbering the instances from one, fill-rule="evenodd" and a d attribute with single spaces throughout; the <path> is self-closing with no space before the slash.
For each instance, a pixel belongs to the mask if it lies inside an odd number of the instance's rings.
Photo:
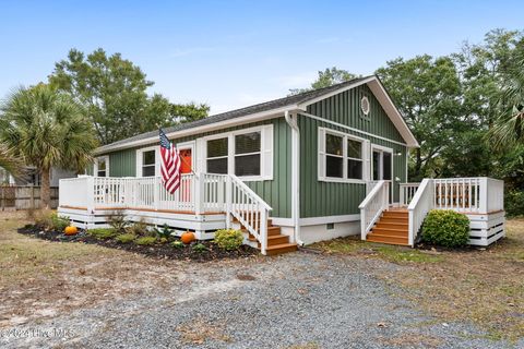
<path id="1" fill-rule="evenodd" d="M 213 239 L 218 229 L 235 228 L 245 243 L 262 254 L 296 250 L 293 236 L 272 225 L 269 206 L 234 174 L 187 173 L 171 195 L 159 177 L 109 178 L 84 176 L 60 181 L 58 213 L 84 229 L 109 227 L 111 216 L 150 226 L 167 225 L 176 234 L 193 231 Z"/>

